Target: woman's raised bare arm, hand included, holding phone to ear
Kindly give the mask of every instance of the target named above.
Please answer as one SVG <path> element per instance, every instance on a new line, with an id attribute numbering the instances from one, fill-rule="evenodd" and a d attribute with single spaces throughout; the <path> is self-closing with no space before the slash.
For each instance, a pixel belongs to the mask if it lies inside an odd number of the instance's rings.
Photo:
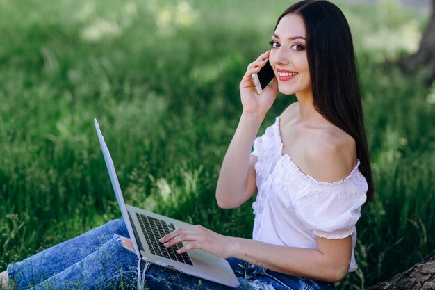
<path id="1" fill-rule="evenodd" d="M 269 51 L 266 51 L 249 64 L 240 82 L 243 113 L 225 154 L 217 180 L 216 200 L 222 208 L 238 207 L 256 191 L 254 165 L 257 159 L 250 156 L 250 152 L 258 129 L 277 97 L 278 85 L 274 81 L 271 87 L 265 88 L 258 95 L 251 76 L 260 71 L 268 57 Z"/>

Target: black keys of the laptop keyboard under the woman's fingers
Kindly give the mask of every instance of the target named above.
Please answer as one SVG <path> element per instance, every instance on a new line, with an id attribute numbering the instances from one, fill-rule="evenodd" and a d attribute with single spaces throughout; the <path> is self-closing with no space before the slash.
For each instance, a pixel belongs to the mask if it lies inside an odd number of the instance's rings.
<path id="1" fill-rule="evenodd" d="M 183 252 L 183 254 L 177 254 L 177 252 L 175 252 L 183 246 L 182 243 L 177 243 L 176 245 L 172 245 L 171 248 L 166 248 L 163 243 L 158 241 L 163 236 L 175 230 L 172 223 L 166 223 L 164 220 L 151 218 L 151 216 L 145 216 L 144 214 L 136 213 L 136 216 L 138 217 L 140 227 L 145 235 L 151 253 L 184 264 L 193 265 L 187 252 Z"/>

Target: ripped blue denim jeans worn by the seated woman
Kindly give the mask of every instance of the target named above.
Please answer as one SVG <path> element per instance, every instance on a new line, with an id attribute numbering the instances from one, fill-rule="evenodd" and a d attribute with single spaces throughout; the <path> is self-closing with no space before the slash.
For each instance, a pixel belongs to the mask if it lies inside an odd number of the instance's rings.
<path id="1" fill-rule="evenodd" d="M 112 220 L 74 239 L 8 266 L 13 289 L 136 289 L 138 257 L 122 246 L 129 237 L 123 220 Z M 330 290 L 333 283 L 284 275 L 228 259 L 238 277 L 238 289 Z M 141 263 L 141 268 L 145 262 Z M 145 289 L 233 289 L 207 280 L 151 265 Z"/>

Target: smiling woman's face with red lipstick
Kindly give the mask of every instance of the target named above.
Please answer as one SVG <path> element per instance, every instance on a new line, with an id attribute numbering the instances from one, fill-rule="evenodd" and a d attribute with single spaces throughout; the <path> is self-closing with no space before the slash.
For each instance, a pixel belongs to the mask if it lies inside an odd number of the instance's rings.
<path id="1" fill-rule="evenodd" d="M 281 18 L 272 35 L 269 61 L 285 95 L 312 95 L 306 57 L 306 31 L 301 16 L 290 13 Z"/>

